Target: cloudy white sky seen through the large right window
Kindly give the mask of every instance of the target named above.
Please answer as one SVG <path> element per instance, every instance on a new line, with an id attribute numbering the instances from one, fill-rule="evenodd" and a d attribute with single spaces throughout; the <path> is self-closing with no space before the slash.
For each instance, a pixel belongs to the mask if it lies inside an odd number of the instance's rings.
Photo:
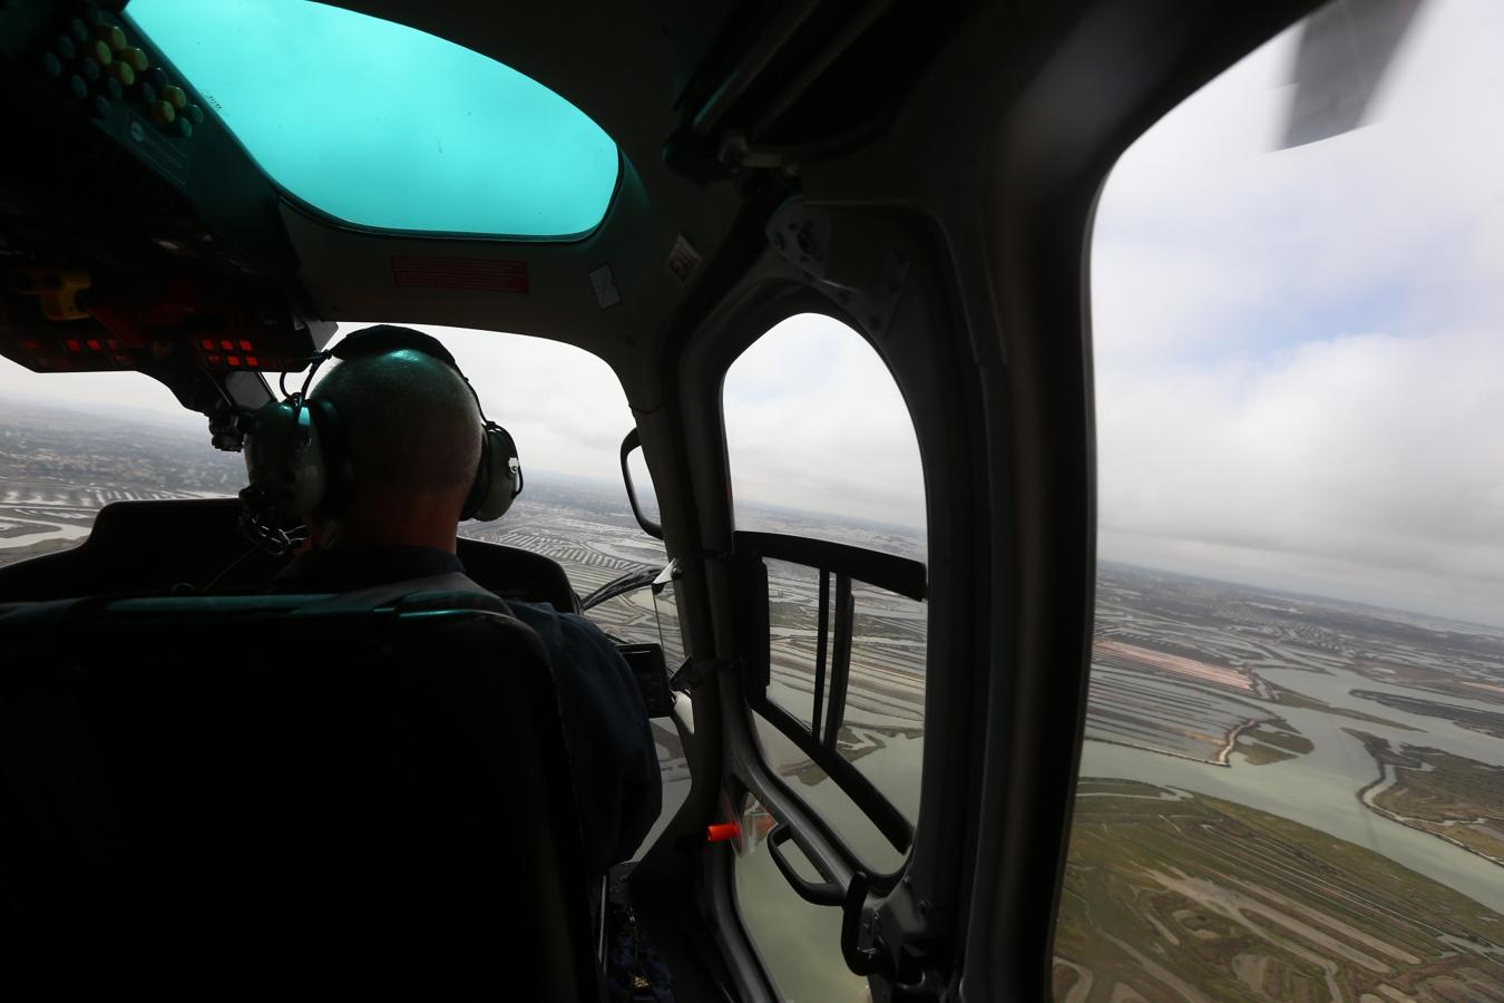
<path id="1" fill-rule="evenodd" d="M 1274 152 L 1290 36 L 1148 132 L 1093 241 L 1101 552 L 1504 620 L 1504 8 Z"/>

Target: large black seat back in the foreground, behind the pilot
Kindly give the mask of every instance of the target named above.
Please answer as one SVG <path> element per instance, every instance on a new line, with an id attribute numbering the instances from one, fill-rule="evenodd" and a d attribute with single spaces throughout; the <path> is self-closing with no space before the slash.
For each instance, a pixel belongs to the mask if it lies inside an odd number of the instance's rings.
<path id="1" fill-rule="evenodd" d="M 457 605 L 0 615 L 8 995 L 597 998 L 546 654 Z"/>

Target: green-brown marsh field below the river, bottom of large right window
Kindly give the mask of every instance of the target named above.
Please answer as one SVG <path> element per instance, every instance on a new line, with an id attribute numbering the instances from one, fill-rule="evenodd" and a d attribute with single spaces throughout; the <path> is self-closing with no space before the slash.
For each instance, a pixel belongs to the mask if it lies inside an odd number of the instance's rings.
<path id="1" fill-rule="evenodd" d="M 1218 798 L 1083 779 L 1054 998 L 1504 1000 L 1504 916 Z"/>

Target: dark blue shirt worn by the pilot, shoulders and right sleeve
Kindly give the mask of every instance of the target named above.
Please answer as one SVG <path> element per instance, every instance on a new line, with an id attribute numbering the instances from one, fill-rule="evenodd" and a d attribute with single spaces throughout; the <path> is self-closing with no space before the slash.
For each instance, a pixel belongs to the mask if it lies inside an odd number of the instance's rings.
<path id="1" fill-rule="evenodd" d="M 347 592 L 463 573 L 457 556 L 432 547 L 352 546 L 298 556 L 277 574 L 272 588 L 287 594 Z M 605 874 L 612 863 L 632 856 L 662 809 L 657 755 L 642 693 L 626 659 L 596 624 L 541 603 L 505 605 L 541 638 L 549 653 L 585 863 L 591 874 Z"/>

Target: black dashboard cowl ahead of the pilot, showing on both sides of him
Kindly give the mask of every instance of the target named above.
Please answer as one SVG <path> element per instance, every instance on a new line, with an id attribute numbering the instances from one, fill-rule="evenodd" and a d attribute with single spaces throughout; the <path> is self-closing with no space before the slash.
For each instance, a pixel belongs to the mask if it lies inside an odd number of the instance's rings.
<path id="1" fill-rule="evenodd" d="M 286 558 L 251 552 L 236 529 L 239 519 L 235 498 L 111 502 L 80 546 L 0 567 L 0 603 L 165 592 L 182 582 L 203 588 L 215 577 L 217 592 L 265 591 Z M 552 558 L 480 540 L 460 540 L 459 556 L 472 579 L 504 598 L 579 609 Z"/>

